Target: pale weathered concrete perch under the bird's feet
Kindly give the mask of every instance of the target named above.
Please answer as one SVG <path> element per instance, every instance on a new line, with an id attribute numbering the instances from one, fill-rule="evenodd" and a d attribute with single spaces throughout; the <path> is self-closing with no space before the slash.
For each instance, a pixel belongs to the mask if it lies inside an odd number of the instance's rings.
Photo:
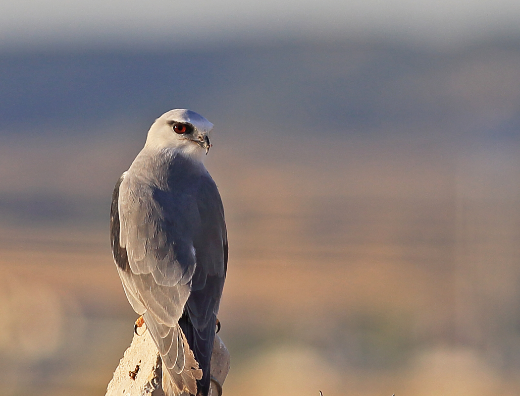
<path id="1" fill-rule="evenodd" d="M 115 369 L 114 377 L 109 382 L 105 396 L 164 396 L 161 387 L 161 356 L 146 326 L 139 330 L 140 336 L 134 335 L 130 347 Z M 229 352 L 224 342 L 215 335 L 213 355 L 211 357 L 211 375 L 220 384 L 224 384 L 230 367 Z M 217 386 L 211 384 L 210 396 L 218 396 Z"/>

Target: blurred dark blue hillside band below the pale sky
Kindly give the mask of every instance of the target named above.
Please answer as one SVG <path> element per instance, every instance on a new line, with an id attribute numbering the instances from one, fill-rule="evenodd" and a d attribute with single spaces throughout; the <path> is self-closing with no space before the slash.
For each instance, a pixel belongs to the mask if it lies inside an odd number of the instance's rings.
<path id="1" fill-rule="evenodd" d="M 79 134 L 85 122 L 107 120 L 145 128 L 173 104 L 225 120 L 221 130 L 268 121 L 274 131 L 313 134 L 318 120 L 320 131 L 335 132 L 454 123 L 466 132 L 498 119 L 507 128 L 518 126 L 519 53 L 517 41 L 445 50 L 372 41 L 4 50 L 0 128 L 17 132 L 22 123 L 39 135 L 72 122 Z"/>

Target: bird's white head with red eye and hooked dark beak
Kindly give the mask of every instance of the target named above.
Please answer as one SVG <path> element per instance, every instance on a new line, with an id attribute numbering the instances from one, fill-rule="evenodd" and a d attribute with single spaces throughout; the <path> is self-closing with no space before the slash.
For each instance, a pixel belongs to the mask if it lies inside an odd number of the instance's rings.
<path id="1" fill-rule="evenodd" d="M 212 129 L 213 124 L 194 111 L 170 110 L 152 124 L 145 147 L 173 148 L 188 157 L 202 159 L 212 146 Z"/>

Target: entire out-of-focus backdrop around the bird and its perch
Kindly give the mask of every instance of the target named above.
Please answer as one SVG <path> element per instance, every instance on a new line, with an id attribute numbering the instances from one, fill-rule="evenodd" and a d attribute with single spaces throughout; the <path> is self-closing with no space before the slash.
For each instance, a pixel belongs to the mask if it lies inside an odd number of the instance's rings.
<path id="1" fill-rule="evenodd" d="M 0 6 L 0 382 L 103 395 L 113 186 L 215 124 L 226 396 L 520 393 L 520 3 Z"/>

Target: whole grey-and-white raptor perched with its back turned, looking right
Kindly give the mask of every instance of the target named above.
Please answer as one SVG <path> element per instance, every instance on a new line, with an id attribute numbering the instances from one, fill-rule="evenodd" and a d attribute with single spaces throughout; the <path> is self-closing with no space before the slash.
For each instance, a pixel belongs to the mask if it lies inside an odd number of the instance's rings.
<path id="1" fill-rule="evenodd" d="M 228 262 L 222 199 L 203 164 L 213 124 L 162 114 L 112 194 L 110 241 L 123 289 L 162 359 L 166 396 L 207 396 Z"/>

